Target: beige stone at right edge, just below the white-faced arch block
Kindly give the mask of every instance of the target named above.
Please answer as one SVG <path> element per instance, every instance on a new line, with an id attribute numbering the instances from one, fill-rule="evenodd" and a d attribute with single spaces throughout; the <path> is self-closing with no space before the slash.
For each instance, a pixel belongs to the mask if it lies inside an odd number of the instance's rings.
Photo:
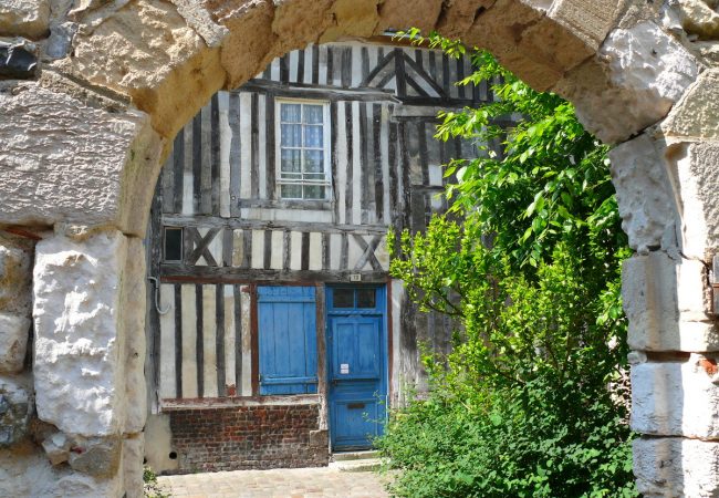
<path id="1" fill-rule="evenodd" d="M 661 123 L 667 137 L 719 139 L 719 70 L 701 73 Z"/>

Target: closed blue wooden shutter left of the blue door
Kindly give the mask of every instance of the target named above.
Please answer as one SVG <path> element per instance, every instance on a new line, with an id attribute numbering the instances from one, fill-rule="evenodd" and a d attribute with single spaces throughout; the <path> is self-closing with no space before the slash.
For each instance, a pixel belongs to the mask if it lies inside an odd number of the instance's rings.
<path id="1" fill-rule="evenodd" d="M 317 392 L 314 287 L 259 287 L 260 394 Z"/>

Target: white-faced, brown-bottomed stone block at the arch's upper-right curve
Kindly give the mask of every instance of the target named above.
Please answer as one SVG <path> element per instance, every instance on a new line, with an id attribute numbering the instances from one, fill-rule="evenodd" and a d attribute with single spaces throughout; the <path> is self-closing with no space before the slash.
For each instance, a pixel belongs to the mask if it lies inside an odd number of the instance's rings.
<path id="1" fill-rule="evenodd" d="M 696 80 L 699 66 L 656 24 L 612 31 L 593 58 L 554 91 L 574 103 L 584 126 L 607 144 L 658 122 Z"/>

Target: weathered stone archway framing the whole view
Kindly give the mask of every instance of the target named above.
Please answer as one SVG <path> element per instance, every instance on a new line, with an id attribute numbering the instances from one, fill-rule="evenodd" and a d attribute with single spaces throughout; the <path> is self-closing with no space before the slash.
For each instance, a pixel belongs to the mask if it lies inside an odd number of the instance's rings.
<path id="1" fill-rule="evenodd" d="M 601 139 L 621 144 L 615 186 L 637 251 L 624 277 L 633 426 L 647 436 L 635 445 L 635 474 L 647 495 L 719 491 L 719 335 L 707 270 L 719 247 L 717 12 L 702 0 L 405 6 L 14 0 L 0 8 L 0 35 L 19 37 L 0 39 L 0 344 L 8 344 L 0 421 L 9 427 L 0 489 L 139 492 L 142 237 L 177 129 L 217 90 L 288 50 L 416 25 L 490 49 L 534 87 L 571 100 Z M 33 354 L 23 363 L 30 315 Z"/>

